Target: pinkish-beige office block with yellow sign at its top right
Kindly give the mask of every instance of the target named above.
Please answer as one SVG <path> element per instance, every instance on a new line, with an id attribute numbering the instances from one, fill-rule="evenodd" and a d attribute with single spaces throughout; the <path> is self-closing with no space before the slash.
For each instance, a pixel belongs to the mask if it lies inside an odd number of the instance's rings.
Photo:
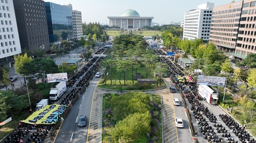
<path id="1" fill-rule="evenodd" d="M 235 52 L 242 5 L 243 1 L 238 1 L 213 8 L 210 42 L 218 50 Z"/>

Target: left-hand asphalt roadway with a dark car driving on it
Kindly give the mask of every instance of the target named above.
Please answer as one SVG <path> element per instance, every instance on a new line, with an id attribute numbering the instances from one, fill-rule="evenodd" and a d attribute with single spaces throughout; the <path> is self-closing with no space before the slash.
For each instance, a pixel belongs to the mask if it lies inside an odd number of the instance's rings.
<path id="1" fill-rule="evenodd" d="M 93 78 L 87 90 L 75 101 L 72 109 L 67 114 L 55 143 L 86 143 L 88 125 L 91 115 L 92 97 L 100 78 Z M 78 127 L 78 120 L 81 115 L 87 116 L 86 126 Z"/>

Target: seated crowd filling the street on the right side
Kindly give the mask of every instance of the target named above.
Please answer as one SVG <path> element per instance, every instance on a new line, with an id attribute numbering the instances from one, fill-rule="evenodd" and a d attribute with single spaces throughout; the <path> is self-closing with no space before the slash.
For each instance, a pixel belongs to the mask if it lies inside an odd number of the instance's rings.
<path id="1" fill-rule="evenodd" d="M 162 50 L 155 50 L 157 55 L 166 55 Z M 171 60 L 170 60 L 171 59 Z M 165 56 L 159 57 L 159 61 L 167 63 L 169 68 L 169 75 L 181 75 L 183 76 L 182 69 L 178 66 L 177 61 L 172 57 L 166 58 Z M 180 70 L 179 70 L 180 69 Z M 192 115 L 195 118 L 195 122 L 199 126 L 200 132 L 203 138 L 209 143 L 256 143 L 255 140 L 247 133 L 245 126 L 240 126 L 232 117 L 229 115 L 219 115 L 221 120 L 225 123 L 226 128 L 221 124 L 217 124 L 217 117 L 210 113 L 207 107 L 201 102 L 203 99 L 198 94 L 198 85 L 196 83 L 176 83 L 182 90 L 183 96 L 191 104 Z M 233 132 L 238 139 L 235 139 L 235 135 L 231 135 Z M 195 132 L 197 135 L 197 131 Z"/>

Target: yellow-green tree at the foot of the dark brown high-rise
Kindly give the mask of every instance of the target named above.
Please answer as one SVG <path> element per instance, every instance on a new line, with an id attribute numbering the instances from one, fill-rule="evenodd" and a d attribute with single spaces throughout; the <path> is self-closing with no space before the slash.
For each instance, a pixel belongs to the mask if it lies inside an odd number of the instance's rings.
<path id="1" fill-rule="evenodd" d="M 14 61 L 15 61 L 15 64 L 14 64 L 14 69 L 15 69 L 15 72 L 17 74 L 20 74 L 20 69 L 22 68 L 23 64 L 25 62 L 30 62 L 32 60 L 32 57 L 28 57 L 27 56 L 27 53 L 25 53 L 24 55 L 20 55 L 18 54 L 18 56 L 14 56 Z"/>

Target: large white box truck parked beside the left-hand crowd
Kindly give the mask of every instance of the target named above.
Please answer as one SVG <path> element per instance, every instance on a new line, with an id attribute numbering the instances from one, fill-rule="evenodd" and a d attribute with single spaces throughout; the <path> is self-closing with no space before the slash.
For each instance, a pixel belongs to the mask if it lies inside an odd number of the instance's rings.
<path id="1" fill-rule="evenodd" d="M 50 99 L 52 101 L 58 100 L 66 90 L 67 90 L 66 82 L 60 82 L 55 87 L 51 88 Z"/>

